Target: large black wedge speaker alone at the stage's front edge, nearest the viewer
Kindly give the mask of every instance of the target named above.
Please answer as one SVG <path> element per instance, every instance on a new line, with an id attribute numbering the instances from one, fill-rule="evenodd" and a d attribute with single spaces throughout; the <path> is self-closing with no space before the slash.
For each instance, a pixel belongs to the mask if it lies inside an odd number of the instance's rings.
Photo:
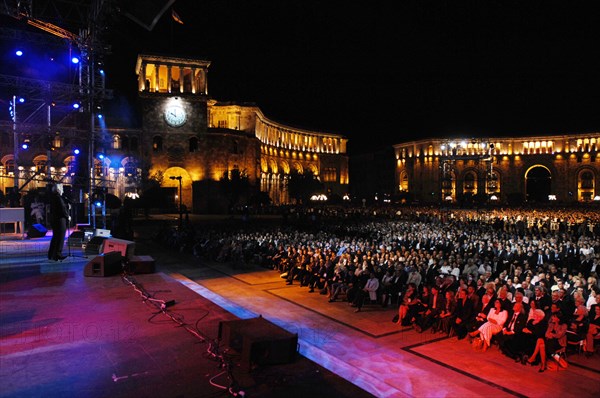
<path id="1" fill-rule="evenodd" d="M 219 323 L 219 338 L 241 353 L 241 368 L 290 363 L 296 359 L 298 334 L 267 321 L 262 316 Z"/>

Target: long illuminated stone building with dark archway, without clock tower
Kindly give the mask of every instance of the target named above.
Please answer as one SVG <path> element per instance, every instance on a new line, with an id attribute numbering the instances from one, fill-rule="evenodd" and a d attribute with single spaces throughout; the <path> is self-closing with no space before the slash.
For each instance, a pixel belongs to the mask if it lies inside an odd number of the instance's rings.
<path id="1" fill-rule="evenodd" d="M 421 203 L 600 199 L 600 133 L 431 139 L 394 145 L 396 188 Z"/>

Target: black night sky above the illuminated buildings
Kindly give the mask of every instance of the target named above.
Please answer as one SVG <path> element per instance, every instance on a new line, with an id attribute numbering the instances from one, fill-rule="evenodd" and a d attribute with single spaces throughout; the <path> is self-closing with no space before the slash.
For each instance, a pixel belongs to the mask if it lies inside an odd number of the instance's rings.
<path id="1" fill-rule="evenodd" d="M 138 53 L 211 61 L 209 95 L 350 139 L 350 153 L 426 137 L 600 129 L 596 2 L 128 1 L 108 30 L 108 87 L 136 94 Z M 150 18 L 150 19 L 149 19 Z"/>

